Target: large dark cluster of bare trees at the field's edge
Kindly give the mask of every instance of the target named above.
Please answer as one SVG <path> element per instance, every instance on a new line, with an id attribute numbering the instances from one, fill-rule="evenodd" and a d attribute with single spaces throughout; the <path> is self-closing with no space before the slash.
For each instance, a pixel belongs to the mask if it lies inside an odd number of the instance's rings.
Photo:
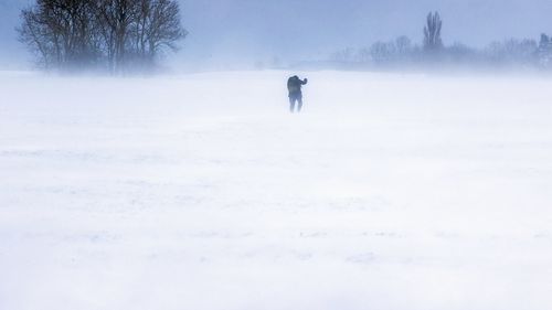
<path id="1" fill-rule="evenodd" d="M 19 39 L 45 70 L 152 70 L 188 32 L 173 0 L 36 0 Z"/>

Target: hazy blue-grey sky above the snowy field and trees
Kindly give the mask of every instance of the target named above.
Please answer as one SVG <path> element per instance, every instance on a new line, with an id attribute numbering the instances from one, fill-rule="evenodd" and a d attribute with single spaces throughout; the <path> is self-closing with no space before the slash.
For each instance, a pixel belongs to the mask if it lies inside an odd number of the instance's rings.
<path id="1" fill-rule="evenodd" d="M 13 28 L 31 0 L 0 0 L 0 64 L 24 62 Z M 552 33 L 551 0 L 182 0 L 190 31 L 181 62 L 321 58 L 340 47 L 408 35 L 438 10 L 446 44 L 482 46 Z"/>

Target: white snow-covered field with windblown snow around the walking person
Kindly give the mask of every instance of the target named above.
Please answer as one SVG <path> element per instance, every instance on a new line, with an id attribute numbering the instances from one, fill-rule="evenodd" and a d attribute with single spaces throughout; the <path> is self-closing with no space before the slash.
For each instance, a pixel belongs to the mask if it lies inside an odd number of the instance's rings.
<path id="1" fill-rule="evenodd" d="M 552 81 L 0 74 L 2 310 L 550 310 Z"/>

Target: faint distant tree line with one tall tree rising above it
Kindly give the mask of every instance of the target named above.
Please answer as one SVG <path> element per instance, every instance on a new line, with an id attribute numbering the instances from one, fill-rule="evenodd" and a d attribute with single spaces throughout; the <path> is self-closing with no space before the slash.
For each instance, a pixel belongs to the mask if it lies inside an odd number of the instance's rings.
<path id="1" fill-rule="evenodd" d="M 414 44 L 411 39 L 402 35 L 392 41 L 378 41 L 369 47 L 337 51 L 330 55 L 330 61 L 380 67 L 452 64 L 552 70 L 552 38 L 546 34 L 542 34 L 539 42 L 532 39 L 507 39 L 492 42 L 484 49 L 474 49 L 461 43 L 446 46 L 442 30 L 439 13 L 429 12 L 423 28 L 422 44 Z"/>

